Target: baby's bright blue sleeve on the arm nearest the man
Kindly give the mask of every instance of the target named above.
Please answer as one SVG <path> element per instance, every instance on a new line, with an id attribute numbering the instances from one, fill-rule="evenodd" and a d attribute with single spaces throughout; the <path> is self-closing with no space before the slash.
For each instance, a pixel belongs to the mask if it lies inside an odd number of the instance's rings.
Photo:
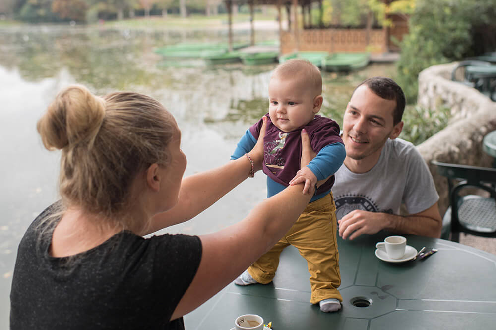
<path id="1" fill-rule="evenodd" d="M 332 143 L 323 147 L 317 156 L 307 165 L 317 180 L 322 180 L 336 173 L 346 157 L 343 143 Z"/>

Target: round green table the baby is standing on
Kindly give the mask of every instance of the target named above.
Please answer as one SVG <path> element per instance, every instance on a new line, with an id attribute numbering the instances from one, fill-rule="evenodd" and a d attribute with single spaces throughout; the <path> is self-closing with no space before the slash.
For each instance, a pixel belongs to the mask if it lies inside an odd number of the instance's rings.
<path id="1" fill-rule="evenodd" d="M 375 256 L 375 243 L 385 236 L 338 238 L 343 307 L 337 313 L 310 304 L 307 263 L 290 246 L 272 283 L 229 284 L 185 316 L 186 330 L 230 330 L 242 314 L 258 314 L 274 330 L 496 329 L 496 255 L 406 235 L 415 249 L 438 252 L 393 264 Z"/>

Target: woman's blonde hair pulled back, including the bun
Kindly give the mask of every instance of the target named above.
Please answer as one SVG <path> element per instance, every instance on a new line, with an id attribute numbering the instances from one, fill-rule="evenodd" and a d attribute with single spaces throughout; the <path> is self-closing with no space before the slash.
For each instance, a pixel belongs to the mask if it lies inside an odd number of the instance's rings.
<path id="1" fill-rule="evenodd" d="M 98 97 L 74 85 L 57 95 L 37 129 L 48 150 L 62 150 L 59 192 L 64 206 L 119 220 L 138 172 L 168 162 L 166 147 L 177 126 L 172 115 L 146 95 Z"/>

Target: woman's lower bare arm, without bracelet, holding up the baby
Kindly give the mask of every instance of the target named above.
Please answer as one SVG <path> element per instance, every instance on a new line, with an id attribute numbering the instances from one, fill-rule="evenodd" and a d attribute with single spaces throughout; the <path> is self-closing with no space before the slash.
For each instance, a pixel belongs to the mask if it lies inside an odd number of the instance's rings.
<path id="1" fill-rule="evenodd" d="M 305 137 L 308 136 L 305 134 Z M 310 143 L 304 142 L 304 154 L 310 154 L 309 148 Z M 289 186 L 255 206 L 243 221 L 217 233 L 200 236 L 203 249 L 200 265 L 171 319 L 203 304 L 270 250 L 295 223 L 313 196 L 314 187 L 310 187 L 307 194 L 302 190 L 303 184 Z"/>

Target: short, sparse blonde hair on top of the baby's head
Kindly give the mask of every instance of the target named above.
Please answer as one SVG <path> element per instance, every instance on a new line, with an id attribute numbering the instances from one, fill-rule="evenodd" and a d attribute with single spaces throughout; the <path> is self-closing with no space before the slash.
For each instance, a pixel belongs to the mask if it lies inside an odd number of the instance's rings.
<path id="1" fill-rule="evenodd" d="M 316 95 L 322 94 L 322 75 L 314 64 L 304 59 L 291 59 L 278 65 L 272 77 L 280 79 L 305 79 Z"/>

